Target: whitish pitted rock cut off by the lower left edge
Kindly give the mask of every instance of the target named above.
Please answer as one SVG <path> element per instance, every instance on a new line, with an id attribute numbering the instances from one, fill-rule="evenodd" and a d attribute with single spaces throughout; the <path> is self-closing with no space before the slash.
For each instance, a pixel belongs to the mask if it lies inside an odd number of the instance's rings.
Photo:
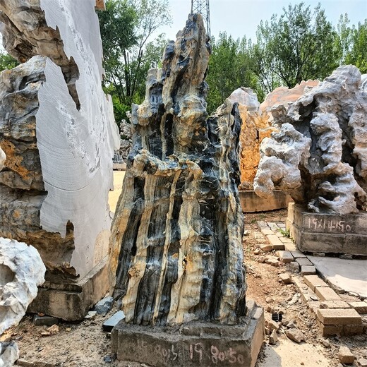
<path id="1" fill-rule="evenodd" d="M 46 268 L 37 250 L 26 243 L 0 237 L 0 335 L 18 325 L 44 282 Z M 0 367 L 19 358 L 14 342 L 0 342 Z"/>

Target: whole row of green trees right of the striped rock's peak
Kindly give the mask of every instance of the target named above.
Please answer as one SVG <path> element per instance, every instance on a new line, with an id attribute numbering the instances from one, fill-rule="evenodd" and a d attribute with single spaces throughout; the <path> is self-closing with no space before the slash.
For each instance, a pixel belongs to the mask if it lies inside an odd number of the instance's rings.
<path id="1" fill-rule="evenodd" d="M 293 88 L 302 80 L 323 80 L 342 64 L 367 73 L 367 19 L 350 26 L 344 15 L 336 28 L 320 4 L 313 9 L 289 5 L 280 16 L 260 22 L 255 42 L 226 33 L 212 39 L 208 111 L 241 86 L 253 88 L 262 101 L 280 85 Z"/>

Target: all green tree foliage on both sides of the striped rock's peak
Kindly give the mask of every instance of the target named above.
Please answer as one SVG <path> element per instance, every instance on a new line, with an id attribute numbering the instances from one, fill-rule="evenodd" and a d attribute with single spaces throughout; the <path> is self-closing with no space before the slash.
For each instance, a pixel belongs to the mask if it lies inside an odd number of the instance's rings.
<path id="1" fill-rule="evenodd" d="M 148 69 L 160 65 L 167 40 L 156 37 L 171 22 L 168 0 L 107 0 L 99 12 L 104 48 L 104 88 L 112 95 L 116 121 L 126 118 L 131 103 L 145 95 Z M 261 21 L 252 41 L 226 32 L 212 37 L 207 73 L 208 112 L 236 88 L 250 87 L 262 101 L 280 85 L 323 80 L 337 66 L 354 64 L 367 73 L 367 20 L 349 25 L 347 15 L 333 27 L 320 4 L 289 5 L 278 16 Z"/>

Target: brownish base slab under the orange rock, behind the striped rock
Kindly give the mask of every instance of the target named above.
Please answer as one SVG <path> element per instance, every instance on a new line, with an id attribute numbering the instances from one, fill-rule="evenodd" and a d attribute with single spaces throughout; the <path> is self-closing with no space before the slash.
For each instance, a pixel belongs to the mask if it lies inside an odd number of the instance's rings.
<path id="1" fill-rule="evenodd" d="M 269 210 L 284 209 L 293 200 L 290 195 L 281 190 L 275 190 L 267 198 L 260 198 L 253 190 L 239 191 L 239 200 L 241 201 L 242 211 L 267 212 Z"/>

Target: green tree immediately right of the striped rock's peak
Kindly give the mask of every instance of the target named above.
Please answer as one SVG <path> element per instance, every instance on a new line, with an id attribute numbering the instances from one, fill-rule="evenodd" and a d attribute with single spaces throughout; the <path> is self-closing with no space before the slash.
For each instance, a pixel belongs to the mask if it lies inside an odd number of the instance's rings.
<path id="1" fill-rule="evenodd" d="M 212 55 L 207 73 L 209 113 L 214 112 L 237 88 L 251 87 L 256 90 L 256 78 L 248 52 L 251 42 L 247 42 L 246 37 L 234 40 L 226 32 L 221 32 L 217 40 L 212 37 L 211 44 Z"/>

